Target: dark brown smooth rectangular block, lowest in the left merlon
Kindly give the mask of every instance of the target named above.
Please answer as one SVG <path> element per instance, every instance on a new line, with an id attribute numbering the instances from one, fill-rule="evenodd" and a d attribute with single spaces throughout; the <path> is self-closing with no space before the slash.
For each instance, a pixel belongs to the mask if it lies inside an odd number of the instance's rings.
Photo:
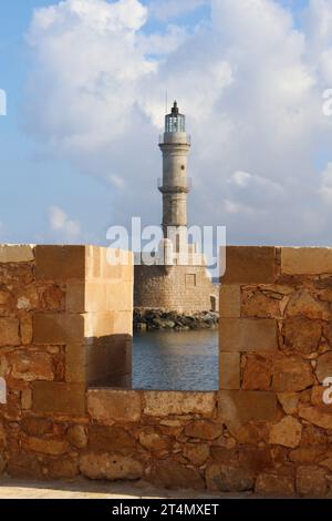
<path id="1" fill-rule="evenodd" d="M 84 416 L 85 386 L 60 381 L 34 381 L 32 409 L 34 412 Z"/>

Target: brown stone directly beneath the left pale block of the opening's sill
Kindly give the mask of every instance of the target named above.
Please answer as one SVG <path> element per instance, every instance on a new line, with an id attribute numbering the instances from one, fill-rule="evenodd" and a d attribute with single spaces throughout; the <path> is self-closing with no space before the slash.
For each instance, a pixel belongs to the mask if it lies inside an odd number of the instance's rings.
<path id="1" fill-rule="evenodd" d="M 93 426 L 90 429 L 89 448 L 94 452 L 128 453 L 133 452 L 135 447 L 135 438 L 121 427 Z"/>

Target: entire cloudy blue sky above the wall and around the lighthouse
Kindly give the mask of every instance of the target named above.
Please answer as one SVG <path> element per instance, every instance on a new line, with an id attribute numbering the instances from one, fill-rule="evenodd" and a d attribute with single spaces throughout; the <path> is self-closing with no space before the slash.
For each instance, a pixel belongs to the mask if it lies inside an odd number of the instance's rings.
<path id="1" fill-rule="evenodd" d="M 1 0 L 0 89 L 0 243 L 159 224 L 167 92 L 190 224 L 331 245 L 331 0 Z"/>

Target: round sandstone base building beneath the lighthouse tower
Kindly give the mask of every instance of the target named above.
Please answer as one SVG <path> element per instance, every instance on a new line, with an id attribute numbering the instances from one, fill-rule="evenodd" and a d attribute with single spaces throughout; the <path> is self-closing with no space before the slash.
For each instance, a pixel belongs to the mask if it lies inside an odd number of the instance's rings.
<path id="1" fill-rule="evenodd" d="M 210 296 L 218 299 L 218 292 L 205 266 L 135 266 L 135 307 L 187 314 L 209 311 Z"/>

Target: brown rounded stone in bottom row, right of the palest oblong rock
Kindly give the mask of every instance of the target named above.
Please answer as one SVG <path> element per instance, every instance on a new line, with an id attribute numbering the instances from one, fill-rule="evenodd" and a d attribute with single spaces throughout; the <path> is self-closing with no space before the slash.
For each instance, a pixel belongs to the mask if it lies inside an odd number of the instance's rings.
<path id="1" fill-rule="evenodd" d="M 166 489 L 203 490 L 205 488 L 204 480 L 196 469 L 170 460 L 158 461 L 153 467 L 148 480 Z"/>

